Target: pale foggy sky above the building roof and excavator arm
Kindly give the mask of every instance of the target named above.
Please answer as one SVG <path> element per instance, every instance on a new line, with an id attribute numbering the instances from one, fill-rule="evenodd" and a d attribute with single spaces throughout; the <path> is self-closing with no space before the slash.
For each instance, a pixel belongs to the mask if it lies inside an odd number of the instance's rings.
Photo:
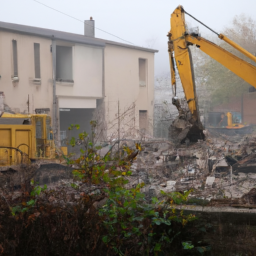
<path id="1" fill-rule="evenodd" d="M 235 15 L 254 18 L 255 0 L 38 0 L 64 13 L 86 20 L 96 27 L 138 46 L 159 50 L 155 75 L 169 71 L 167 33 L 170 15 L 178 5 L 217 32 L 228 26 Z M 83 34 L 83 23 L 44 7 L 33 0 L 0 0 L 0 21 Z M 186 16 L 192 26 L 200 24 Z M 126 43 L 96 29 L 96 37 Z"/>

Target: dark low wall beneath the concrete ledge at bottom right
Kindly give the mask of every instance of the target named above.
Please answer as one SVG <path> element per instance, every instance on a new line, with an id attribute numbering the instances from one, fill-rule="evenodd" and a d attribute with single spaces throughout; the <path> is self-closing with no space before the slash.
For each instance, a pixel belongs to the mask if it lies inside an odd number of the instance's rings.
<path id="1" fill-rule="evenodd" d="M 250 212 L 195 212 L 194 228 L 203 230 L 202 240 L 211 256 L 256 255 L 256 215 Z"/>

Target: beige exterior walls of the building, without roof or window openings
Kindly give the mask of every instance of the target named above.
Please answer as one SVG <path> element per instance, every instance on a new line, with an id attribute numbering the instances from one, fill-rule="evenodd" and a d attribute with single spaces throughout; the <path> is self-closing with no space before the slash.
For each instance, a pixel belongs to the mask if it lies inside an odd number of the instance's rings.
<path id="1" fill-rule="evenodd" d="M 12 40 L 17 40 L 17 82 L 12 81 Z M 40 44 L 41 83 L 33 81 L 34 43 Z M 52 114 L 51 45 L 51 39 L 0 30 L 0 91 L 4 92 L 6 103 L 13 110 L 26 113 L 29 96 L 30 113 L 36 108 L 50 108 Z M 72 47 L 73 79 L 56 82 L 59 108 L 96 109 L 97 99 L 103 98 L 105 109 L 102 118 L 106 118 L 108 128 L 112 126 L 110 121 L 116 119 L 118 109 L 122 115 L 130 108 L 129 117 L 125 120 L 127 127 L 132 126 L 138 131 L 139 111 L 147 111 L 147 134 L 153 135 L 154 53 L 112 44 L 106 44 L 104 49 L 57 40 L 56 45 Z M 146 60 L 146 85 L 140 84 L 139 59 Z M 117 126 L 112 130 L 117 130 Z"/>

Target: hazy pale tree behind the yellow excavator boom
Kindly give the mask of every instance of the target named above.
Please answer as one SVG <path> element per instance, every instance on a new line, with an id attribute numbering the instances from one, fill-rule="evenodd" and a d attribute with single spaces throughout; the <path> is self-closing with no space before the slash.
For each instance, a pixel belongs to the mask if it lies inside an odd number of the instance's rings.
<path id="1" fill-rule="evenodd" d="M 226 27 L 223 34 L 252 54 L 256 53 L 256 21 L 252 18 L 245 15 L 235 16 L 232 25 Z M 216 42 L 217 40 L 211 41 Z M 239 58 L 255 65 L 250 59 L 224 41 L 218 40 L 218 44 Z M 210 100 L 211 106 L 214 106 L 227 102 L 231 98 L 238 97 L 244 92 L 248 92 L 250 85 L 217 61 L 194 48 L 192 49 L 192 55 L 197 91 L 204 91 L 203 97 L 198 93 L 199 101 L 206 99 L 209 102 Z"/>

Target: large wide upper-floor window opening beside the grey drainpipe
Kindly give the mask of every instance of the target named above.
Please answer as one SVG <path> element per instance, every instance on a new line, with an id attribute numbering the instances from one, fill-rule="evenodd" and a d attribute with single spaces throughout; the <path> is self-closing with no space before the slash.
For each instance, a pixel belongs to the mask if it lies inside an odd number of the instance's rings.
<path id="1" fill-rule="evenodd" d="M 72 71 L 72 47 L 56 47 L 56 80 L 74 82 Z"/>

